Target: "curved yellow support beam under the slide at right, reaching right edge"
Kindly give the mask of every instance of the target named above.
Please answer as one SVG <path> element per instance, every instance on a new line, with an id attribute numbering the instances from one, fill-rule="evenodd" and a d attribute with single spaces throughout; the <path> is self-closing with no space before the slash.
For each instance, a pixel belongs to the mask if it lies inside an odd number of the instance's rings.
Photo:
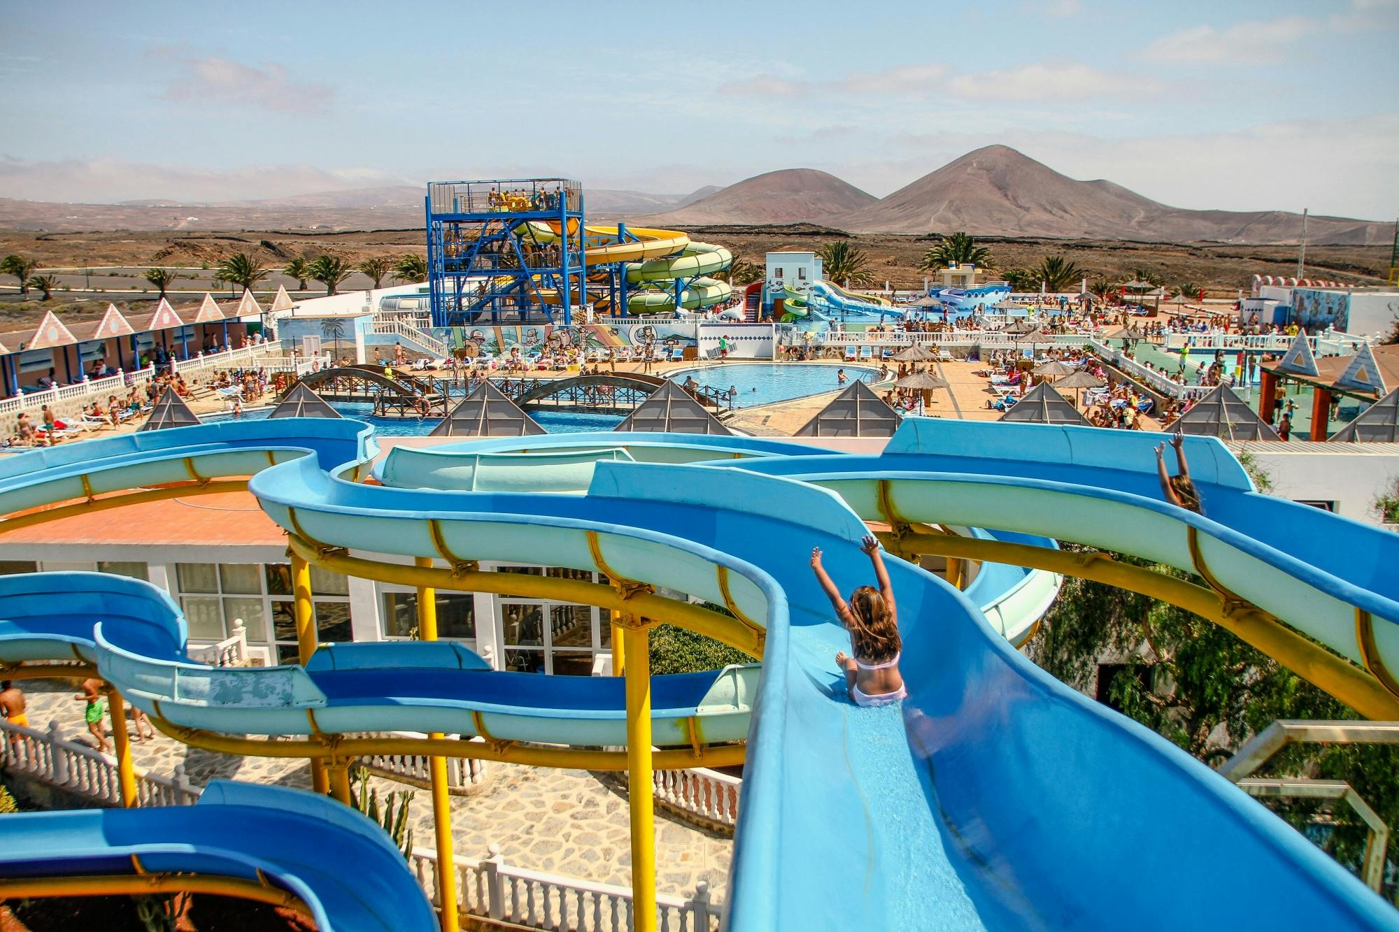
<path id="1" fill-rule="evenodd" d="M 1219 624 L 1361 715 L 1379 721 L 1399 719 L 1399 697 L 1386 690 L 1374 675 L 1297 634 L 1260 609 L 1249 605 L 1227 605 L 1226 598 L 1214 589 L 1206 589 L 1140 567 L 1130 567 L 1105 553 L 1074 554 L 1031 544 L 977 540 L 953 535 L 907 533 L 898 537 L 881 533 L 877 536 L 890 549 L 900 547 L 909 553 L 967 557 L 985 563 L 1048 570 L 1170 602 Z"/>

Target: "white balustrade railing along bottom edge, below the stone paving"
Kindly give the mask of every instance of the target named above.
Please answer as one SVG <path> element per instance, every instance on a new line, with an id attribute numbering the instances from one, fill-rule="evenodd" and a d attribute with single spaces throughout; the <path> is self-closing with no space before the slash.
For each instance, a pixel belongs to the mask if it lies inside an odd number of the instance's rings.
<path id="1" fill-rule="evenodd" d="M 562 877 L 506 865 L 499 845 L 481 859 L 453 858 L 460 910 L 526 929 L 571 932 L 630 932 L 634 928 L 631 889 Z M 411 863 L 418 883 L 441 905 L 436 852 L 414 848 Z M 711 932 L 719 928 L 720 905 L 709 901 L 709 886 L 695 886 L 691 897 L 656 894 L 662 932 Z"/>

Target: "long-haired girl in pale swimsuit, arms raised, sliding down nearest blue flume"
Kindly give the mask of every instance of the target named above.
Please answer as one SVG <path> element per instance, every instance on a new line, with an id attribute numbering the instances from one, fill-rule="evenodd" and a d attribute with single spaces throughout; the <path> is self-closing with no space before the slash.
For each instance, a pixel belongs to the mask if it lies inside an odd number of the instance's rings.
<path id="1" fill-rule="evenodd" d="M 811 549 L 811 571 L 831 600 L 837 617 L 851 634 L 849 655 L 839 651 L 835 662 L 845 673 L 845 689 L 856 705 L 886 705 L 908 696 L 904 677 L 898 673 L 898 655 L 902 640 L 898 637 L 898 609 L 894 605 L 894 588 L 888 582 L 888 570 L 880 554 L 879 540 L 866 535 L 860 550 L 874 565 L 874 579 L 879 588 L 860 586 L 851 593 L 849 602 L 841 598 L 831 577 L 821 565 L 821 549 Z"/>

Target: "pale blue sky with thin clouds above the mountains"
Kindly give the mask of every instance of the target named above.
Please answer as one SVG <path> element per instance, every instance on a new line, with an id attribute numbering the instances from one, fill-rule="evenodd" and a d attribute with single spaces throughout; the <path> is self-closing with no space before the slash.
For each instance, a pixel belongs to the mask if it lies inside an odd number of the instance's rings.
<path id="1" fill-rule="evenodd" d="M 1182 207 L 1389 220 L 1396 39 L 1399 0 L 49 0 L 0 31 L 0 196 L 795 167 L 883 196 L 1004 143 Z"/>

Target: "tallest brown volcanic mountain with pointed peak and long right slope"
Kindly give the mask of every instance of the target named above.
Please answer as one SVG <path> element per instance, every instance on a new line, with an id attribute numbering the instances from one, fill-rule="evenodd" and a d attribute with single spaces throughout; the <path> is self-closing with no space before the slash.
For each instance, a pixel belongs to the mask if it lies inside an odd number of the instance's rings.
<path id="1" fill-rule="evenodd" d="M 821 223 L 851 232 L 1062 236 L 1147 242 L 1297 242 L 1301 216 L 1168 207 L 1108 181 L 1074 181 L 1006 146 L 986 146 L 877 203 Z M 1388 224 L 1311 217 L 1315 243 L 1382 243 Z"/>

